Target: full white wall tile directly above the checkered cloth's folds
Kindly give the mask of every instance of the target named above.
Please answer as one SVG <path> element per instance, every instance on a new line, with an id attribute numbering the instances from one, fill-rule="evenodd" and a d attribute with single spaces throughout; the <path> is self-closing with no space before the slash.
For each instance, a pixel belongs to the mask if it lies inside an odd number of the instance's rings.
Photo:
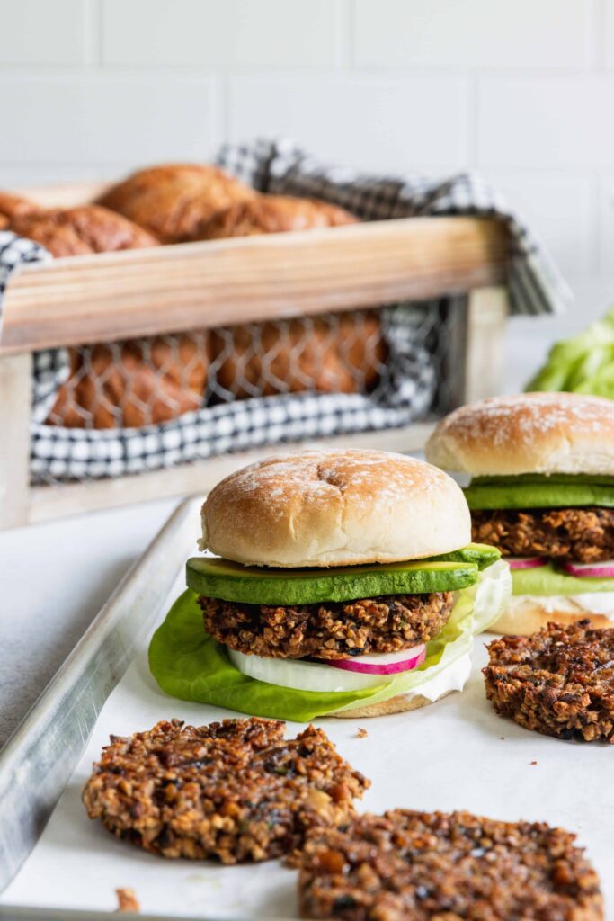
<path id="1" fill-rule="evenodd" d="M 464 77 L 237 76 L 228 134 L 287 134 L 349 165 L 440 172 L 467 159 L 466 109 Z"/>

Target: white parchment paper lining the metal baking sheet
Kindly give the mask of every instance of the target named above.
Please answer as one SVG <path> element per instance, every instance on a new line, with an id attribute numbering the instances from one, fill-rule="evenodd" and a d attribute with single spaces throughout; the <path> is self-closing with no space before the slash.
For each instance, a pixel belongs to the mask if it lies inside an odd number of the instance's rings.
<path id="1" fill-rule="evenodd" d="M 178 576 L 173 597 L 181 589 Z M 342 756 L 372 781 L 359 808 L 467 809 L 508 821 L 550 822 L 576 832 L 600 873 L 611 912 L 614 748 L 548 739 L 497 717 L 486 701 L 480 672 L 488 638 L 476 640 L 474 667 L 463 694 L 412 713 L 328 718 L 319 725 Z M 200 725 L 232 716 L 237 714 L 162 694 L 147 669 L 144 647 L 110 695 L 38 845 L 0 902 L 110 911 L 117 907 L 114 890 L 126 886 L 150 914 L 295 917 L 295 871 L 276 861 L 226 868 L 148 855 L 91 822 L 81 803 L 92 762 L 111 733 L 130 735 L 162 718 Z M 367 730 L 366 738 L 358 738 L 359 726 Z M 287 734 L 297 729 L 298 724 L 288 723 Z"/>

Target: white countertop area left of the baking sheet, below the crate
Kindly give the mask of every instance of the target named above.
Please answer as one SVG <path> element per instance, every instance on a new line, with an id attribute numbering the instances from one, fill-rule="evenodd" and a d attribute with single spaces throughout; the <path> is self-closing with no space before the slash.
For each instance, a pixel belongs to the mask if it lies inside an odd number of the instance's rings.
<path id="1" fill-rule="evenodd" d="M 0 532 L 0 746 L 178 502 Z"/>

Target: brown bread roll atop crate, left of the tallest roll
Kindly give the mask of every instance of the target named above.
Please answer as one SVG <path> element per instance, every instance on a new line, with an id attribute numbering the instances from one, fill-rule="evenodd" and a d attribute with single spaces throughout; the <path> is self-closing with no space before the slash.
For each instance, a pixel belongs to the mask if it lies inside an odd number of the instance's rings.
<path id="1" fill-rule="evenodd" d="M 55 257 L 159 246 L 143 227 L 97 204 L 15 215 L 9 228 L 41 243 Z"/>

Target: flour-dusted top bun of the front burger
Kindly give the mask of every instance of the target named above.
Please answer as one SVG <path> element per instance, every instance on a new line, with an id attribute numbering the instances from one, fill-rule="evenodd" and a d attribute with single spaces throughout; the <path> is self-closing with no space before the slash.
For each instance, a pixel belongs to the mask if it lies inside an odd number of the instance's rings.
<path id="1" fill-rule="evenodd" d="M 201 549 L 246 565 L 391 563 L 471 540 L 458 485 L 387 451 L 306 451 L 232 473 L 203 506 Z"/>

